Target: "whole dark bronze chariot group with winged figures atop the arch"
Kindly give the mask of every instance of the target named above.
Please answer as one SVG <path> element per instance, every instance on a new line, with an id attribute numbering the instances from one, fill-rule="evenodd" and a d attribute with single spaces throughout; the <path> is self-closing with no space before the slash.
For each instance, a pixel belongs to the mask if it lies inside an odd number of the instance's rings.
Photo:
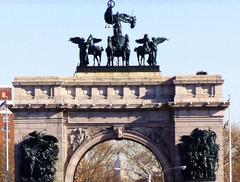
<path id="1" fill-rule="evenodd" d="M 129 16 L 124 13 L 113 14 L 112 9 L 115 6 L 113 0 L 108 2 L 107 10 L 104 14 L 105 22 L 112 25 L 113 27 L 113 36 L 109 36 L 107 39 L 107 48 L 105 49 L 107 55 L 107 66 L 119 66 L 120 58 L 122 60 L 122 66 L 129 66 L 130 58 L 130 46 L 129 46 L 129 36 L 126 34 L 122 35 L 122 26 L 121 22 L 129 23 L 131 28 L 134 28 L 136 25 L 136 17 Z M 145 66 L 145 55 L 148 55 L 147 63 L 150 66 L 155 66 L 157 64 L 157 46 L 160 43 L 168 40 L 164 37 L 148 37 L 148 34 L 145 34 L 142 39 L 137 39 L 136 42 L 142 44 L 134 49 L 137 53 L 137 59 L 139 66 Z M 69 41 L 72 43 L 78 44 L 80 49 L 79 59 L 80 67 L 86 67 L 89 64 L 89 55 L 93 55 L 93 66 L 97 61 L 98 66 L 101 64 L 101 56 L 103 47 L 96 46 L 95 43 L 101 42 L 102 39 L 94 38 L 91 34 L 85 40 L 80 37 L 70 38 Z M 114 58 L 117 58 L 117 63 L 114 64 Z"/>

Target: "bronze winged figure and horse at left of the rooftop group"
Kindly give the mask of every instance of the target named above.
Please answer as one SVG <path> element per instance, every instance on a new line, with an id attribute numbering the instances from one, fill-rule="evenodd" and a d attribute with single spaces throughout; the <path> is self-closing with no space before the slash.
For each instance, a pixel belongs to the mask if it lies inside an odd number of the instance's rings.
<path id="1" fill-rule="evenodd" d="M 88 55 L 93 55 L 93 66 L 95 66 L 95 62 L 97 61 L 98 66 L 101 64 L 102 51 L 103 47 L 95 46 L 95 43 L 101 42 L 101 39 L 93 38 L 92 35 L 88 37 L 85 41 L 84 38 L 73 37 L 70 38 L 74 44 L 78 44 L 80 49 L 79 51 L 79 59 L 80 59 L 80 67 L 86 67 L 89 64 Z"/>

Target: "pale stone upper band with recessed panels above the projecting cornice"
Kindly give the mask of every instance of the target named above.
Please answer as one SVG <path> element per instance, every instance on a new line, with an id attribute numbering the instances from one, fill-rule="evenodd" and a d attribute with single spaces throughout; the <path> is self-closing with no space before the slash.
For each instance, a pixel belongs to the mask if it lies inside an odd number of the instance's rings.
<path id="1" fill-rule="evenodd" d="M 177 77 L 157 77 L 142 73 L 145 77 L 139 79 L 136 75 L 123 81 L 102 75 L 91 82 L 85 76 L 73 78 L 16 78 L 15 104 L 26 99 L 30 104 L 147 104 L 151 103 L 207 103 L 223 102 L 220 76 L 196 75 Z M 97 73 L 95 74 L 97 76 Z M 108 77 L 109 76 L 109 77 Z M 152 77 L 151 77 L 152 76 Z M 49 101 L 46 101 L 49 99 Z M 105 101 L 103 101 L 103 99 Z M 52 100 L 52 101 L 51 101 Z M 18 102 L 19 101 L 19 102 Z"/>

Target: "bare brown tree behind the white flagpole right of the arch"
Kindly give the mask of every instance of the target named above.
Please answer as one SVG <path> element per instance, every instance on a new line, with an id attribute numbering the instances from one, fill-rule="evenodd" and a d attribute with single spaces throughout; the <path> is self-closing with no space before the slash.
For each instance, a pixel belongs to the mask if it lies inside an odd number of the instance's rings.
<path id="1" fill-rule="evenodd" d="M 229 182 L 229 130 L 224 129 L 224 181 Z M 240 129 L 232 127 L 232 180 L 240 181 Z"/>

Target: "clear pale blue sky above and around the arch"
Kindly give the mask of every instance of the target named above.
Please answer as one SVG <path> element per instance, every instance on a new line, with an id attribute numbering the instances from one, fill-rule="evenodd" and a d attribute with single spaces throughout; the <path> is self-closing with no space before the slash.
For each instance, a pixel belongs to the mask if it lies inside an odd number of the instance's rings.
<path id="1" fill-rule="evenodd" d="M 164 76 L 221 74 L 223 93 L 232 100 L 232 119 L 240 122 L 240 1 L 115 0 L 114 12 L 134 14 L 134 29 L 123 24 L 133 50 L 145 33 L 170 41 L 158 46 Z M 105 28 L 105 0 L 0 0 L 0 85 L 16 76 L 72 76 L 78 47 L 70 37 L 102 38 L 106 47 L 112 29 Z M 105 55 L 103 56 L 105 59 Z M 132 51 L 130 63 L 137 64 Z M 103 61 L 103 65 L 106 61 Z"/>

